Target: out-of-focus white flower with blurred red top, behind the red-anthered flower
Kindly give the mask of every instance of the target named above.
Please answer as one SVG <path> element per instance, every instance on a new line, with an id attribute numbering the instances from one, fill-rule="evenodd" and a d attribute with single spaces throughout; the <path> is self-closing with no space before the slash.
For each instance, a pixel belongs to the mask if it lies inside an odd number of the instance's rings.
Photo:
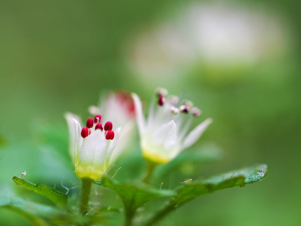
<path id="1" fill-rule="evenodd" d="M 92 115 L 103 113 L 104 117 L 114 125 L 122 127 L 118 146 L 112 153 L 110 162 L 113 163 L 126 150 L 130 149 L 135 137 L 135 106 L 130 93 L 118 91 L 102 98 L 98 107 L 91 106 Z"/>

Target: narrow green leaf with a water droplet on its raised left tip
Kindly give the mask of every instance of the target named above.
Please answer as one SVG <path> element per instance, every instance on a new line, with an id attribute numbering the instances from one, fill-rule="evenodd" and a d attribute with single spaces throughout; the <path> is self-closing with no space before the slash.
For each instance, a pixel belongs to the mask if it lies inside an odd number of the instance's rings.
<path id="1" fill-rule="evenodd" d="M 57 206 L 67 206 L 67 195 L 51 187 L 48 187 L 45 184 L 33 184 L 21 177 L 13 177 L 13 181 L 23 188 L 31 190 L 35 193 L 38 193 L 39 195 L 46 197 L 47 199 L 50 199 Z"/>

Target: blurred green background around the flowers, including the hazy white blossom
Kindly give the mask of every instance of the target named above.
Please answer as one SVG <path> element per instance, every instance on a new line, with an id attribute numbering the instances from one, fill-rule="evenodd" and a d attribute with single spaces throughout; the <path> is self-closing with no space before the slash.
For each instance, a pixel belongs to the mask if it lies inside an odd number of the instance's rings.
<path id="1" fill-rule="evenodd" d="M 185 92 L 203 110 L 195 124 L 214 120 L 193 149 L 214 143 L 224 157 L 204 165 L 196 173 L 200 178 L 254 163 L 268 164 L 269 175 L 197 198 L 160 225 L 301 224 L 296 2 L 0 5 L 2 202 L 30 196 L 11 180 L 23 170 L 28 180 L 49 186 L 54 180 L 59 186 L 62 176 L 76 180 L 67 154 L 66 111 L 86 118 L 88 106 L 111 89 L 136 92 L 147 103 L 161 86 Z M 5 225 L 23 219 L 6 210 L 0 214 Z"/>

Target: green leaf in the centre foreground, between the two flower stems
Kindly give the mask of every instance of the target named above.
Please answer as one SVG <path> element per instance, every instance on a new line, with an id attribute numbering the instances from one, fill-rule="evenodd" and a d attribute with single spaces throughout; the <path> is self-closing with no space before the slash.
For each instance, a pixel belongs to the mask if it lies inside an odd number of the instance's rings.
<path id="1" fill-rule="evenodd" d="M 175 196 L 171 190 L 159 190 L 146 184 L 126 184 L 111 180 L 106 176 L 101 178 L 101 181 L 95 181 L 95 184 L 109 187 L 116 191 L 123 200 L 125 206 L 132 210 L 143 206 L 147 202 L 157 199 L 162 196 Z"/>

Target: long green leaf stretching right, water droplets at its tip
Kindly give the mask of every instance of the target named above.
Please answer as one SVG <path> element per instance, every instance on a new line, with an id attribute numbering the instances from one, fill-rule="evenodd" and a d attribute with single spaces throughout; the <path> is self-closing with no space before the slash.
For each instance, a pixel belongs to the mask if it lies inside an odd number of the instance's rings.
<path id="1" fill-rule="evenodd" d="M 209 194 L 228 187 L 243 187 L 245 184 L 261 180 L 265 177 L 266 173 L 267 165 L 260 164 L 253 167 L 231 171 L 227 174 L 215 176 L 200 182 L 186 182 L 179 188 L 178 195 L 174 199 L 174 203 L 176 203 L 176 205 L 180 205 L 197 196 Z"/>

